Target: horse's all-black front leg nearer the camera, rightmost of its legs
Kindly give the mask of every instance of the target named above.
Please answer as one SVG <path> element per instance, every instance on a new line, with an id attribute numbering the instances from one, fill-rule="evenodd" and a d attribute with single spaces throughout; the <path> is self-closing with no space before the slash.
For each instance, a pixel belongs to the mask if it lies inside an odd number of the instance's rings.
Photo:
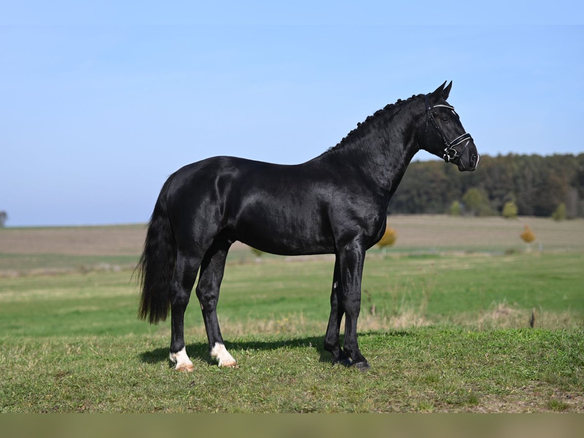
<path id="1" fill-rule="evenodd" d="M 367 359 L 363 357 L 357 343 L 357 318 L 361 309 L 361 277 L 365 248 L 360 242 L 349 242 L 340 246 L 339 260 L 340 282 L 343 286 L 342 304 L 345 308 L 345 343 L 343 349 L 352 361 L 352 366 L 360 370 L 369 369 Z"/>

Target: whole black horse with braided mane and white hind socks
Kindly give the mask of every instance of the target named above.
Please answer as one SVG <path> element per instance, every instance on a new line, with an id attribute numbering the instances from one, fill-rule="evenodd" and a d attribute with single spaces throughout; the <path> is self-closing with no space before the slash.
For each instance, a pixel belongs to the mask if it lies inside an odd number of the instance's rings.
<path id="1" fill-rule="evenodd" d="M 219 366 L 237 367 L 223 345 L 215 311 L 234 241 L 279 255 L 334 253 L 325 349 L 333 363 L 369 368 L 357 344 L 365 251 L 385 232 L 388 201 L 406 167 L 420 149 L 460 171 L 474 171 L 479 162 L 470 134 L 446 102 L 452 82 L 444 85 L 385 106 L 335 147 L 303 164 L 214 157 L 169 176 L 154 206 L 138 265 L 139 316 L 156 324 L 170 308 L 170 357 L 176 370 L 193 370 L 185 351 L 183 317 L 199 270 L 196 294 L 211 356 Z"/>

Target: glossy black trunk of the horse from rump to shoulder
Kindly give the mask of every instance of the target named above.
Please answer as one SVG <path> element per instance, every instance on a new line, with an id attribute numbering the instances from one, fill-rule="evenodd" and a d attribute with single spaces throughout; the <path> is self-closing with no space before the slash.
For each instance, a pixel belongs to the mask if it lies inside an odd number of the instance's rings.
<path id="1" fill-rule="evenodd" d="M 332 182 L 312 167 L 213 157 L 179 169 L 168 196 L 177 241 L 221 233 L 267 252 L 332 252 Z"/>

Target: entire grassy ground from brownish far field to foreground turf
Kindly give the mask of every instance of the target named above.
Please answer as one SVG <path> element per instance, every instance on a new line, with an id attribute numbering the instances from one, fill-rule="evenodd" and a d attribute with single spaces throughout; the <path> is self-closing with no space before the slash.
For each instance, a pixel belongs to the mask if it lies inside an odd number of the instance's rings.
<path id="1" fill-rule="evenodd" d="M 541 252 L 519 240 L 528 220 Z M 235 247 L 218 315 L 240 368 L 211 364 L 192 303 L 181 374 L 169 322 L 135 318 L 143 227 L 0 230 L 0 411 L 584 412 L 584 221 L 390 225 L 398 244 L 364 271 L 368 373 L 322 349 L 329 256 Z"/>

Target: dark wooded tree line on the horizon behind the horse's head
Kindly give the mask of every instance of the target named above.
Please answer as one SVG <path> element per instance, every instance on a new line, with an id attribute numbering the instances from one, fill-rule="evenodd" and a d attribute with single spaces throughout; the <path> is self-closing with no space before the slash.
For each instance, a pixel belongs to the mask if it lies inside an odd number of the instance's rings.
<path id="1" fill-rule="evenodd" d="M 412 162 L 388 213 L 450 213 L 458 203 L 462 213 L 495 215 L 510 202 L 520 215 L 551 216 L 560 207 L 568 218 L 584 217 L 584 154 L 481 155 L 475 172 L 442 161 Z"/>

